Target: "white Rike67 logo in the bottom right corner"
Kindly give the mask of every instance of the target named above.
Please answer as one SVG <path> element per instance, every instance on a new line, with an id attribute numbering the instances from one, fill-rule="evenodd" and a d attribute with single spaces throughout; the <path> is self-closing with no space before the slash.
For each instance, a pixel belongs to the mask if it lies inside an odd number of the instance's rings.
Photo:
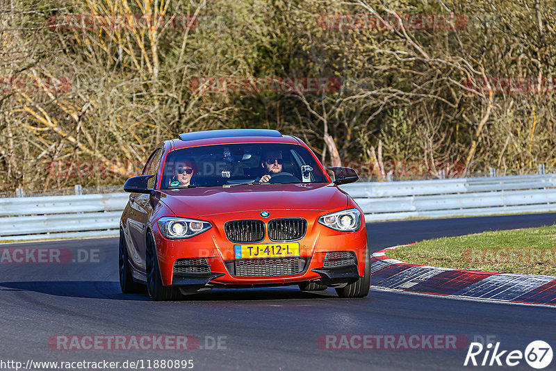
<path id="1" fill-rule="evenodd" d="M 521 352 L 521 350 L 512 350 L 511 352 L 502 350 L 500 349 L 500 342 L 495 345 L 488 343 L 486 346 L 481 343 L 471 343 L 465 357 L 464 366 L 516 366 L 525 359 L 525 362 L 532 368 L 541 370 L 550 365 L 552 358 L 552 347 L 543 340 L 531 342 L 525 348 L 525 352 Z"/>

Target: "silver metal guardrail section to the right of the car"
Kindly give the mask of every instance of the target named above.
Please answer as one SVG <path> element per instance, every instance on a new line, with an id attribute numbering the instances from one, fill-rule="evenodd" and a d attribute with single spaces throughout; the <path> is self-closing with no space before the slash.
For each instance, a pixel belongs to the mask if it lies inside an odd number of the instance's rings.
<path id="1" fill-rule="evenodd" d="M 341 186 L 367 222 L 556 211 L 556 174 Z"/>

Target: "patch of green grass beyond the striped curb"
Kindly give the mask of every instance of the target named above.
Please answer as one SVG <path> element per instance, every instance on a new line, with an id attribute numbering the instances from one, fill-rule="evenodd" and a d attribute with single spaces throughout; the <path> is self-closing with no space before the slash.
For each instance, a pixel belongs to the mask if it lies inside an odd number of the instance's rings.
<path id="1" fill-rule="evenodd" d="M 556 225 L 425 240 L 386 255 L 435 267 L 556 276 Z"/>

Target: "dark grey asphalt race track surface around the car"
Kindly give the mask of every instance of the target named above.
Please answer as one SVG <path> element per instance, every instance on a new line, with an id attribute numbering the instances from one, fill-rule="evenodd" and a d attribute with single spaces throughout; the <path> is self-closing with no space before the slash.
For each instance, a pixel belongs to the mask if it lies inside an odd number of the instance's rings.
<path id="1" fill-rule="evenodd" d="M 377 251 L 426 238 L 551 224 L 556 213 L 371 223 L 367 231 Z M 193 370 L 475 369 L 463 365 L 466 349 L 320 349 L 317 340 L 326 334 L 458 334 L 469 341 L 491 336 L 500 349 L 523 352 L 532 340 L 545 340 L 556 351 L 555 308 L 373 289 L 364 299 L 339 299 L 332 289 L 306 293 L 297 286 L 212 290 L 181 302 L 151 302 L 120 292 L 117 238 L 0 246 L 6 247 L 57 247 L 74 257 L 77 249 L 98 249 L 99 256 L 89 263 L 0 265 L 1 361 L 193 359 Z M 225 349 L 49 347 L 53 336 L 76 334 L 193 335 L 209 348 L 220 336 Z M 511 369 L 532 370 L 525 361 Z"/>

